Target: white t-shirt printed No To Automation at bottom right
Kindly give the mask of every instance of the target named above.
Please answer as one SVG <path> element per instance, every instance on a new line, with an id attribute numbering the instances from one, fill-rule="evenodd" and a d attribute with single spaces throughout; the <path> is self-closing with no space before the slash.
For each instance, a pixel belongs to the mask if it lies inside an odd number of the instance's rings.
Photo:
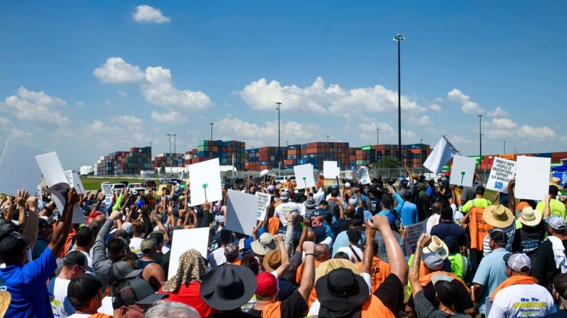
<path id="1" fill-rule="evenodd" d="M 535 318 L 551 314 L 553 297 L 545 287 L 537 284 L 512 285 L 500 290 L 488 318 Z"/>

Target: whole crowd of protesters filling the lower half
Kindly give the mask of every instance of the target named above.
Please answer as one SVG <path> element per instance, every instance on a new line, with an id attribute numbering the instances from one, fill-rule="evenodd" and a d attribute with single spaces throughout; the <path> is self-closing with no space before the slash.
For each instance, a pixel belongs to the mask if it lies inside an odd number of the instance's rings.
<path id="1" fill-rule="evenodd" d="M 272 195 L 252 235 L 225 228 L 227 189 L 199 206 L 181 184 L 110 204 L 71 189 L 63 211 L 48 191 L 2 195 L 0 317 L 567 317 L 558 179 L 541 201 L 516 199 L 511 180 L 491 202 L 479 174 L 464 188 L 450 177 L 246 179 L 232 189 Z M 209 229 L 207 255 L 171 259 L 190 228 Z"/>

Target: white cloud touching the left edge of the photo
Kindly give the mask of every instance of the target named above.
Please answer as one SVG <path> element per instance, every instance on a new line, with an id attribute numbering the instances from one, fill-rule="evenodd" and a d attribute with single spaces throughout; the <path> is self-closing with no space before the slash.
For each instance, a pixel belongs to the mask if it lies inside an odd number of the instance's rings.
<path id="1" fill-rule="evenodd" d="M 67 102 L 58 97 L 51 97 L 45 92 L 34 92 L 20 86 L 16 95 L 6 97 L 1 103 L 5 112 L 9 112 L 19 120 L 30 122 L 47 122 L 63 126 L 68 123 L 68 117 L 61 114 Z"/>

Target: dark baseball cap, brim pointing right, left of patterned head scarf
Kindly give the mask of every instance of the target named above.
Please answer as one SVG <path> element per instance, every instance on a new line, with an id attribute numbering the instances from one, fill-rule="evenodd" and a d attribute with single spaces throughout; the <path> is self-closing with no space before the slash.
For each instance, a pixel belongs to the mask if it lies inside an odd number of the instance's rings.
<path id="1" fill-rule="evenodd" d="M 122 292 L 123 289 L 130 288 L 132 292 Z M 123 296 L 126 294 L 127 296 Z M 131 304 L 153 304 L 158 300 L 168 297 L 166 294 L 156 294 L 149 282 L 136 278 L 123 282 L 116 290 L 112 299 L 113 309 L 118 309 L 122 306 L 129 306 Z"/>

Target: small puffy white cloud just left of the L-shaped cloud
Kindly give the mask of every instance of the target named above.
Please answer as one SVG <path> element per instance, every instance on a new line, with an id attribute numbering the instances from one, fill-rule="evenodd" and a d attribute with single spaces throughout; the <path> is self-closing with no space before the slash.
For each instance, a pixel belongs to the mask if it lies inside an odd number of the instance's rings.
<path id="1" fill-rule="evenodd" d="M 138 65 L 131 65 L 123 58 L 107 58 L 104 65 L 93 70 L 93 75 L 104 83 L 140 83 L 145 75 Z"/>

